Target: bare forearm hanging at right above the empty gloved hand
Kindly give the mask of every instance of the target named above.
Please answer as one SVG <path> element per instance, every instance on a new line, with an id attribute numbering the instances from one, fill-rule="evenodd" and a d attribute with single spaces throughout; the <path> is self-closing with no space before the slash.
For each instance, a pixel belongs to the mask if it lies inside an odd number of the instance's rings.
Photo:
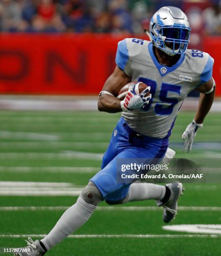
<path id="1" fill-rule="evenodd" d="M 214 96 L 215 96 L 215 91 L 209 94 L 205 94 L 205 93 L 200 94 L 198 108 L 194 118 L 196 123 L 203 123 L 204 118 L 206 117 L 209 110 L 211 109 Z"/>

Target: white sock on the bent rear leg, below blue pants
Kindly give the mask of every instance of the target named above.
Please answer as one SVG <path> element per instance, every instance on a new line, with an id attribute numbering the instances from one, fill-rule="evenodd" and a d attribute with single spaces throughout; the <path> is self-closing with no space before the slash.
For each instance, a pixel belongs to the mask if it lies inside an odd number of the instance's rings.
<path id="1" fill-rule="evenodd" d="M 147 199 L 162 200 L 166 187 L 152 183 L 133 183 L 124 202 L 142 201 Z"/>

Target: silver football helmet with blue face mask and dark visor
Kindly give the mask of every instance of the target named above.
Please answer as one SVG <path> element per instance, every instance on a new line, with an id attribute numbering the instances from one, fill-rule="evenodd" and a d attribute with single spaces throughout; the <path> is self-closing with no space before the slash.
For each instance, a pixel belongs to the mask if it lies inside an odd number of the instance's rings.
<path id="1" fill-rule="evenodd" d="M 150 33 L 154 46 L 168 55 L 184 54 L 189 44 L 191 28 L 186 14 L 179 8 L 160 8 L 151 18 Z"/>

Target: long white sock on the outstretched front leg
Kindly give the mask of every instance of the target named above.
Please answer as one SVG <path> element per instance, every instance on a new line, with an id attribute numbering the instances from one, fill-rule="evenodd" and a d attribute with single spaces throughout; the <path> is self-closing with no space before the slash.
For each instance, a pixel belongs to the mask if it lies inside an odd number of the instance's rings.
<path id="1" fill-rule="evenodd" d="M 81 197 L 66 210 L 54 228 L 41 241 L 49 250 L 80 228 L 92 215 L 97 206 L 88 204 Z"/>

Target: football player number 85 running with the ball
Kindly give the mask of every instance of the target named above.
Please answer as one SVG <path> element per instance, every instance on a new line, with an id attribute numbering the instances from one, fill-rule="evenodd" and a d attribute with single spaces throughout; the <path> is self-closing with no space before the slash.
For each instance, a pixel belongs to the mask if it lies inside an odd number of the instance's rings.
<path id="1" fill-rule="evenodd" d="M 101 171 L 83 189 L 77 202 L 66 210 L 50 233 L 41 241 L 28 238 L 32 255 L 43 255 L 80 228 L 98 204 L 122 204 L 139 200 L 156 200 L 163 206 L 163 221 L 168 223 L 177 212 L 182 193 L 180 182 L 161 186 L 148 183 L 116 181 L 117 159 L 158 159 L 168 150 L 176 116 L 183 100 L 193 89 L 200 92 L 198 109 L 193 121 L 183 133 L 183 150 L 191 151 L 198 128 L 211 108 L 215 82 L 212 78 L 213 59 L 209 54 L 189 50 L 191 28 L 180 9 L 163 7 L 150 22 L 151 41 L 126 38 L 118 43 L 116 68 L 103 86 L 98 109 L 109 113 L 122 112 L 103 156 Z M 117 95 L 130 81 L 141 81 L 148 87 L 136 95 L 133 88 L 123 101 Z M 150 95 L 144 97 L 150 90 Z M 27 253 L 17 253 L 27 255 Z"/>

